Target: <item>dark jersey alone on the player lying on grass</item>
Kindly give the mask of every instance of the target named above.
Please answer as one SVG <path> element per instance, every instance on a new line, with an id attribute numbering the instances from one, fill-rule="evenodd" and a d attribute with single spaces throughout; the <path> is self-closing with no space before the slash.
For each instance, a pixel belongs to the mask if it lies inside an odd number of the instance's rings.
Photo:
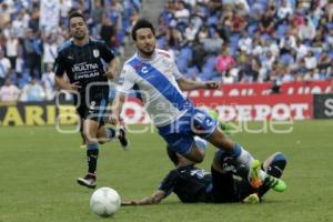
<path id="1" fill-rule="evenodd" d="M 159 190 L 174 192 L 184 203 L 206 202 L 212 175 L 194 165 L 176 168 L 161 182 Z"/>

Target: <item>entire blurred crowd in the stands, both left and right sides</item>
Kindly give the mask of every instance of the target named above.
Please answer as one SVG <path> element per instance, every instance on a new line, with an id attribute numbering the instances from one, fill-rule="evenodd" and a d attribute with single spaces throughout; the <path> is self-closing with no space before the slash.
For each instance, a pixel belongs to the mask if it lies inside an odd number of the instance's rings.
<path id="1" fill-rule="evenodd" d="M 40 0 L 0 0 L 0 102 L 54 98 L 53 62 L 70 38 L 72 10 L 119 56 L 140 17 L 141 0 L 59 2 L 59 28 L 46 32 Z M 169 0 L 157 39 L 191 79 L 281 84 L 333 77 L 331 0 Z"/>

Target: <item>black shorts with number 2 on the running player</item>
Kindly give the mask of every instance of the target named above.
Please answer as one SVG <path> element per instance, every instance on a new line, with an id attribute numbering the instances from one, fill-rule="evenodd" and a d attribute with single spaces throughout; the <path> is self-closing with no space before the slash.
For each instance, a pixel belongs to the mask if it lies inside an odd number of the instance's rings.
<path id="1" fill-rule="evenodd" d="M 78 105 L 77 111 L 81 119 L 90 119 L 99 122 L 101 125 L 104 124 L 109 93 L 94 93 L 89 98 L 82 97 L 78 104 L 78 99 L 74 99 Z"/>

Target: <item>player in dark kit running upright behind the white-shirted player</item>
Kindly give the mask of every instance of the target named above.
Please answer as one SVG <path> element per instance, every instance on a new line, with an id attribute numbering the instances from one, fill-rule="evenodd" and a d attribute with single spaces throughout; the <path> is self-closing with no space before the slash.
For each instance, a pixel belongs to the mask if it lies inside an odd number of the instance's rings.
<path id="1" fill-rule="evenodd" d="M 69 24 L 72 39 L 59 50 L 54 80 L 60 89 L 75 92 L 74 102 L 80 115 L 78 121 L 83 122 L 88 158 L 88 173 L 77 181 L 80 185 L 95 188 L 99 143 L 118 137 L 122 147 L 128 144 L 124 129 L 115 131 L 105 128 L 103 120 L 110 91 L 108 79 L 115 74 L 117 61 L 105 43 L 89 37 L 85 20 L 80 12 L 74 11 L 69 16 Z"/>

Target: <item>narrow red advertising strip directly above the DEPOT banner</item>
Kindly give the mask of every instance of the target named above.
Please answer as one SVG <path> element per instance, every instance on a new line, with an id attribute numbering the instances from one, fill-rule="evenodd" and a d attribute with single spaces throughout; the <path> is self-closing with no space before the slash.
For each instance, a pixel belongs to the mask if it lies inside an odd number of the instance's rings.
<path id="1" fill-rule="evenodd" d="M 326 93 L 330 91 L 330 81 L 290 82 L 281 85 L 281 94 L 302 95 Z M 238 83 L 223 84 L 221 90 L 193 90 L 189 92 L 190 98 L 211 97 L 251 97 L 270 95 L 271 83 Z"/>

